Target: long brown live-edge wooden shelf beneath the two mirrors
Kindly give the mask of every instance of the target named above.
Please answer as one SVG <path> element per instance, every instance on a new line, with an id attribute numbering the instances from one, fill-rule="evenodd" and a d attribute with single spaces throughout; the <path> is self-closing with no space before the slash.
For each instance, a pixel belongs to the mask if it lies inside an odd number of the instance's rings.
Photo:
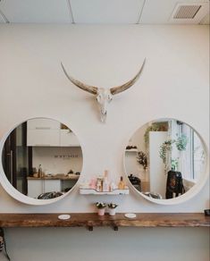
<path id="1" fill-rule="evenodd" d="M 0 227 L 210 227 L 210 217 L 202 213 L 144 213 L 129 219 L 123 213 L 99 216 L 96 213 L 70 213 L 68 220 L 59 220 L 61 214 L 0 214 Z"/>

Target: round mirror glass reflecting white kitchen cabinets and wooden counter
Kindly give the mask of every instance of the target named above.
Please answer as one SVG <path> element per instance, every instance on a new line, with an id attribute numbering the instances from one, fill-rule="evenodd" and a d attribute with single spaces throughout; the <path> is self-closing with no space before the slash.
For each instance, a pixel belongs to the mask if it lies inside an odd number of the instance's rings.
<path id="1" fill-rule="evenodd" d="M 64 124 L 36 118 L 21 123 L 3 147 L 4 173 L 15 189 L 30 198 L 62 196 L 78 181 L 82 151 Z"/>

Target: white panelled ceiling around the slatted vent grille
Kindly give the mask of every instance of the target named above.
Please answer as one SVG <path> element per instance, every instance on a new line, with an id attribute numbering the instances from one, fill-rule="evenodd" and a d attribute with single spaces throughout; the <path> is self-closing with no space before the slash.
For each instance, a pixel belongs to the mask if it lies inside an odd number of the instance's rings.
<path id="1" fill-rule="evenodd" d="M 194 19 L 173 21 L 177 4 L 205 4 Z M 207 0 L 0 0 L 0 22 L 209 24 Z"/>

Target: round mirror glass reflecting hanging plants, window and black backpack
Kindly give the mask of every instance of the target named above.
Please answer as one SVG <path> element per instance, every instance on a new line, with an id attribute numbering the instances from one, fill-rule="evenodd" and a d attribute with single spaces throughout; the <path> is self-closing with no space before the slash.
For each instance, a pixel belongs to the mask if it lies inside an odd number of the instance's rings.
<path id="1" fill-rule="evenodd" d="M 205 167 L 205 147 L 197 132 L 172 119 L 139 128 L 125 150 L 130 183 L 150 198 L 181 196 L 202 178 Z"/>

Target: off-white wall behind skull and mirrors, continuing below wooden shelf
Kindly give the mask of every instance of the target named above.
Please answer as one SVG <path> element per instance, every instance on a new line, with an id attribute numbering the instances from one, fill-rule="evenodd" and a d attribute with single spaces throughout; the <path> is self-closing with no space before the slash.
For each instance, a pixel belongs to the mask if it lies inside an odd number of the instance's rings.
<path id="1" fill-rule="evenodd" d="M 80 139 L 82 175 L 86 178 L 105 169 L 119 178 L 124 173 L 123 149 L 132 132 L 158 118 L 189 123 L 207 145 L 208 47 L 206 26 L 1 25 L 0 136 L 15 124 L 38 116 L 70 125 Z M 75 78 L 110 87 L 129 80 L 145 56 L 147 64 L 141 78 L 130 90 L 113 98 L 106 124 L 99 122 L 92 96 L 72 86 L 60 66 L 63 61 Z M 175 206 L 155 205 L 133 191 L 129 196 L 100 199 L 118 203 L 119 212 L 202 212 L 209 207 L 209 190 L 206 184 L 196 197 Z M 1 212 L 92 212 L 92 203 L 97 200 L 98 197 L 80 196 L 74 189 L 54 205 L 26 206 L 0 189 Z M 24 237 L 17 243 L 22 232 Z M 174 245 L 179 247 L 179 260 L 207 261 L 209 255 L 207 231 L 200 228 L 121 229 L 114 237 L 110 229 L 102 228 L 91 233 L 85 229 L 66 232 L 7 230 L 11 257 L 15 261 L 28 261 L 29 257 L 94 261 L 99 252 L 107 252 L 109 260 L 137 260 L 137 255 L 145 260 L 172 260 Z M 160 234 L 162 241 L 156 244 Z M 27 248 L 23 250 L 23 246 Z"/>

